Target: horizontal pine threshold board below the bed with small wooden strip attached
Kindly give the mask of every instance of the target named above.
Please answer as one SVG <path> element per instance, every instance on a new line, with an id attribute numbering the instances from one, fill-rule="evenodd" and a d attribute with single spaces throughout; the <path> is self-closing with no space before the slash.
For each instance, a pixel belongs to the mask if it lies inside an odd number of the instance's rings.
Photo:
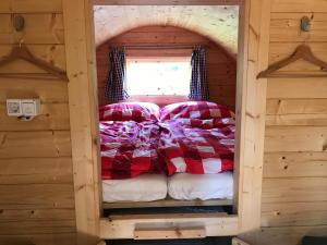
<path id="1" fill-rule="evenodd" d="M 100 220 L 102 240 L 168 240 L 233 236 L 238 216 L 225 212 L 109 216 Z"/>

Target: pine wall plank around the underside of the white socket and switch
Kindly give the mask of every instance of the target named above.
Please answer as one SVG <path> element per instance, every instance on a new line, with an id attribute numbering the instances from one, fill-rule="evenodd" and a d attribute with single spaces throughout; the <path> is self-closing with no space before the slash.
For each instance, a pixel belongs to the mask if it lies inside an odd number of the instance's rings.
<path id="1" fill-rule="evenodd" d="M 8 117 L 5 103 L 0 103 L 0 131 L 70 130 L 68 103 L 41 103 L 40 114 L 29 122 Z"/>

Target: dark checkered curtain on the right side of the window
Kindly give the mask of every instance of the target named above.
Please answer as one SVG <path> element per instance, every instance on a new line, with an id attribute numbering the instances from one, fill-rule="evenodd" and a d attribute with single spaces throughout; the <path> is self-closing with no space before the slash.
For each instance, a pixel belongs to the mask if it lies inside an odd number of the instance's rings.
<path id="1" fill-rule="evenodd" d="M 209 86 L 207 83 L 205 48 L 196 47 L 193 49 L 191 65 L 192 74 L 189 98 L 194 100 L 208 100 Z"/>

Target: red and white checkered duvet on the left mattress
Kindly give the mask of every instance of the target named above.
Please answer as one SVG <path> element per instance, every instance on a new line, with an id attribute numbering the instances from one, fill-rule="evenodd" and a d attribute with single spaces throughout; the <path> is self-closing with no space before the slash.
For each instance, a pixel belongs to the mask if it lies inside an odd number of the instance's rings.
<path id="1" fill-rule="evenodd" d="M 159 173 L 159 126 L 153 121 L 100 122 L 102 180 Z"/>

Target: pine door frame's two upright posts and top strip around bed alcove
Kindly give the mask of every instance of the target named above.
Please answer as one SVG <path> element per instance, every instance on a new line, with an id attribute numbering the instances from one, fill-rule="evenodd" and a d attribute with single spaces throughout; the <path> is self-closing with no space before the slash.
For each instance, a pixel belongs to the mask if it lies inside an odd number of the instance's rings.
<path id="1" fill-rule="evenodd" d="M 96 0 L 137 5 L 137 0 Z M 261 226 L 266 79 L 271 0 L 148 0 L 142 4 L 240 4 L 237 83 L 235 212 L 239 234 L 254 241 Z M 90 0 L 62 1 L 78 245 L 94 245 L 100 232 L 97 78 Z"/>

